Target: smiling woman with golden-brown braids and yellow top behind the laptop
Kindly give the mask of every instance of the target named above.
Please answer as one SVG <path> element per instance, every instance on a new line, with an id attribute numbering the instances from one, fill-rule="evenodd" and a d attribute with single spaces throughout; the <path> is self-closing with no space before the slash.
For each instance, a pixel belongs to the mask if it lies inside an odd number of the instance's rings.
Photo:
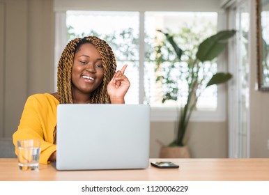
<path id="1" fill-rule="evenodd" d="M 95 36 L 71 40 L 59 60 L 57 92 L 27 99 L 18 130 L 13 134 L 15 146 L 20 139 L 41 139 L 40 163 L 56 161 L 57 105 L 124 104 L 130 87 L 124 75 L 126 67 L 116 72 L 114 53 L 104 40 Z"/>

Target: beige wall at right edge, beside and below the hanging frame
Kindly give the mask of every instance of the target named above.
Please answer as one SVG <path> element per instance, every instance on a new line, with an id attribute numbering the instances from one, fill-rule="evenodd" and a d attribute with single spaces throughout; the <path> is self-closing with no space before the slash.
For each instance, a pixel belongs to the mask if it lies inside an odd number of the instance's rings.
<path id="1" fill-rule="evenodd" d="M 251 2 L 250 157 L 269 157 L 269 92 L 256 89 L 256 6 Z"/>

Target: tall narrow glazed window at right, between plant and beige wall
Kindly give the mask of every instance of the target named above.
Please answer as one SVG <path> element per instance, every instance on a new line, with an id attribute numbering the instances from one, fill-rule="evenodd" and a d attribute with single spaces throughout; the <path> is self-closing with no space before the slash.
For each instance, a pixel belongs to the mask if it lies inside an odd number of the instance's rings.
<path id="1" fill-rule="evenodd" d="M 238 31 L 229 49 L 229 71 L 236 75 L 229 86 L 229 157 L 232 158 L 249 157 L 250 7 L 245 0 L 227 8 L 229 26 Z"/>

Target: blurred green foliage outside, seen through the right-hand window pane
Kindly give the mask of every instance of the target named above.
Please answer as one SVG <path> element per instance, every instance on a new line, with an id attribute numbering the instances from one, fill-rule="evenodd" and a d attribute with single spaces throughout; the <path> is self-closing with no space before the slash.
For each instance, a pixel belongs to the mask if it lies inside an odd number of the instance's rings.
<path id="1" fill-rule="evenodd" d="M 208 34 L 214 32 L 214 26 L 206 26 L 198 32 L 192 30 L 191 26 L 183 26 L 178 33 L 171 33 L 168 30 L 170 36 L 173 36 L 174 41 L 180 45 L 180 48 L 184 51 L 179 54 L 180 61 L 178 60 L 178 54 L 175 52 L 170 42 L 162 36 L 157 40 L 158 44 L 155 46 L 155 72 L 156 82 L 159 82 L 162 86 L 162 103 L 167 100 L 179 100 L 181 104 L 185 104 L 184 99 L 188 93 L 188 83 L 192 79 L 192 66 L 194 64 L 195 55 L 199 44 L 208 37 Z M 207 81 L 212 75 L 217 72 L 216 59 L 208 62 L 203 66 L 203 70 L 197 72 L 201 80 L 201 88 L 206 87 Z M 201 89 L 198 89 L 197 93 L 201 93 Z"/>

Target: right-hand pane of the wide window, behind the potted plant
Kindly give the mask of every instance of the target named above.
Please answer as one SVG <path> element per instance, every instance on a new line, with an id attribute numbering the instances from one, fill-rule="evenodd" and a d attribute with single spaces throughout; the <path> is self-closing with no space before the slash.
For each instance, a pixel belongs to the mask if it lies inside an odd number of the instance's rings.
<path id="1" fill-rule="evenodd" d="M 152 42 L 151 44 L 145 45 L 151 46 L 146 47 L 146 59 L 144 63 L 144 86 L 147 102 L 153 107 L 169 107 L 175 104 L 183 105 L 187 101 L 187 83 L 184 79 L 186 75 L 184 75 L 184 73 L 180 75 L 178 69 L 186 69 L 187 63 L 176 62 L 170 65 L 171 61 L 176 59 L 176 56 L 174 55 L 174 50 L 171 48 L 171 45 L 166 47 L 160 46 L 162 45 L 164 36 L 157 31 L 158 29 L 176 35 L 176 42 L 180 48 L 185 51 L 183 57 L 194 56 L 199 43 L 217 32 L 217 13 L 146 12 L 145 14 L 146 40 L 148 39 L 148 41 L 145 42 Z M 165 59 L 164 63 L 162 63 L 159 68 L 159 72 L 160 75 L 170 78 L 166 83 L 156 81 L 157 68 L 156 61 L 154 60 L 156 59 L 156 46 L 157 49 L 160 49 L 160 47 L 165 49 L 164 52 L 159 53 L 162 53 L 162 59 Z M 168 49 L 171 49 L 171 52 L 167 54 L 166 50 Z M 173 66 L 175 66 L 175 68 L 173 68 Z M 215 73 L 217 71 L 217 64 L 213 63 L 213 68 L 210 68 L 210 66 L 211 64 L 208 63 L 206 68 Z M 209 76 L 212 76 L 212 74 Z M 178 97 L 177 101 L 169 100 L 162 104 L 162 95 L 166 91 L 173 89 L 177 93 L 175 94 L 175 96 Z M 217 86 L 207 88 L 206 91 L 202 93 L 197 102 L 197 108 L 212 110 L 217 108 Z"/>

